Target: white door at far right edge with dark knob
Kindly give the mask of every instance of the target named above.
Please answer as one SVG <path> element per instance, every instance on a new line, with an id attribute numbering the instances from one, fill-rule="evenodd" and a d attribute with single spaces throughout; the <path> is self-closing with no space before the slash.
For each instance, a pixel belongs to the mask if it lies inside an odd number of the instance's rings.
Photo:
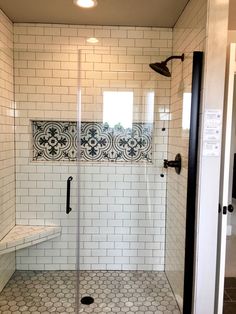
<path id="1" fill-rule="evenodd" d="M 225 255 L 226 255 L 226 231 L 227 231 L 227 212 L 229 202 L 229 179 L 230 179 L 230 154 L 231 154 L 231 132 L 233 115 L 233 94 L 234 76 L 236 60 L 236 44 L 230 45 L 230 55 L 228 71 L 226 77 L 226 111 L 224 119 L 224 136 L 221 166 L 221 191 L 220 191 L 220 213 L 218 224 L 218 256 L 216 274 L 216 300 L 215 314 L 223 313 L 224 303 L 224 277 L 225 277 Z"/>

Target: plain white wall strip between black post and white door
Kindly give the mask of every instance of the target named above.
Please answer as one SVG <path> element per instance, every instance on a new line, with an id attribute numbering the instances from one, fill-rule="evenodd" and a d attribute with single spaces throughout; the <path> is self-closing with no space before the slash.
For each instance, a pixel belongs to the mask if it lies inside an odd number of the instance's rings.
<path id="1" fill-rule="evenodd" d="M 224 105 L 228 0 L 208 0 L 197 200 L 194 313 L 214 313 L 221 156 L 204 155 L 204 114 Z"/>

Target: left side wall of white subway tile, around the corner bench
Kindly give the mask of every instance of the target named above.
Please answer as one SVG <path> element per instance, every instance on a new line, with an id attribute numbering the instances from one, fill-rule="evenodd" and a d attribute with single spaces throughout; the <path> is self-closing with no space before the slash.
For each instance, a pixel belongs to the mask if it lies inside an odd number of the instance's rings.
<path id="1" fill-rule="evenodd" d="M 13 25 L 0 10 L 0 240 L 15 225 Z M 0 257 L 0 291 L 15 270 L 15 253 Z"/>

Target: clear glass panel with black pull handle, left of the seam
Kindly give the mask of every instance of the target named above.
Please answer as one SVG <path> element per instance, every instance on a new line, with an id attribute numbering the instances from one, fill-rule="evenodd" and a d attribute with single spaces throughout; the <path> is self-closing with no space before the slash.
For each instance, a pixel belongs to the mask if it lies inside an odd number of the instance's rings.
<path id="1" fill-rule="evenodd" d="M 20 246 L 17 271 L 1 300 L 19 297 L 17 307 L 25 313 L 49 308 L 66 312 L 67 307 L 75 312 L 78 54 L 57 46 L 16 49 L 14 60 L 16 225 L 20 237 L 16 240 Z M 10 110 L 13 117 L 14 110 Z M 14 130 L 12 119 L 6 121 Z M 66 214 L 70 176 L 72 211 Z M 17 295 L 13 295 L 15 287 Z"/>

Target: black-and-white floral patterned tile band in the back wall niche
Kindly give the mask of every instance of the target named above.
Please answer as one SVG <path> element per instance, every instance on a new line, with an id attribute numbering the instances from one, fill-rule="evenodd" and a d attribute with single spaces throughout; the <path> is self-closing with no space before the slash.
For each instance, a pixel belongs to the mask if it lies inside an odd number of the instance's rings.
<path id="1" fill-rule="evenodd" d="M 77 122 L 33 121 L 33 160 L 76 161 Z M 107 123 L 82 122 L 80 160 L 151 162 L 152 124 L 132 128 Z"/>

